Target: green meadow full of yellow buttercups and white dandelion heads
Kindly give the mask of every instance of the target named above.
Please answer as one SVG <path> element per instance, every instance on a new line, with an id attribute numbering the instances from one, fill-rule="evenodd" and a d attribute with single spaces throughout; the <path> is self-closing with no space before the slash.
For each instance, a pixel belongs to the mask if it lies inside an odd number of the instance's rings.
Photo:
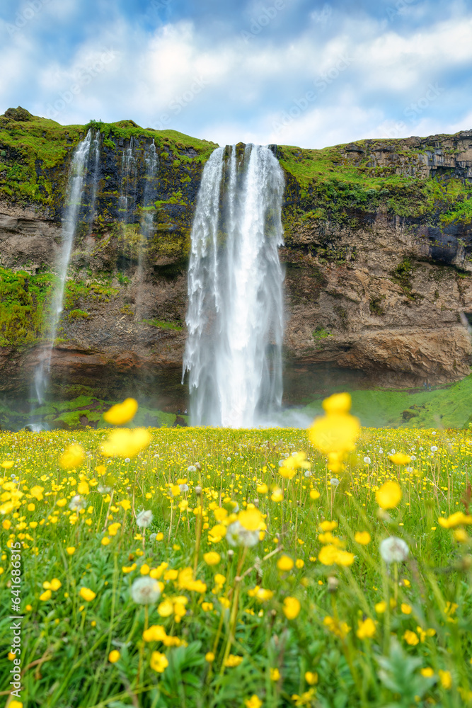
<path id="1" fill-rule="evenodd" d="M 471 430 L 359 429 L 347 399 L 309 431 L 122 404 L 0 433 L 6 705 L 472 705 Z"/>

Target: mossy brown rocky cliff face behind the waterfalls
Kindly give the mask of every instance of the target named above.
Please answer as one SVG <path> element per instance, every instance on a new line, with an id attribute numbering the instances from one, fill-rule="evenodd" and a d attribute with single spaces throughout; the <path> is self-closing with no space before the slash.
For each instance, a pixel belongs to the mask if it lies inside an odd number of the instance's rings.
<path id="1" fill-rule="evenodd" d="M 214 144 L 132 121 L 63 127 L 18 110 L 0 118 L 1 390 L 25 392 L 45 346 L 71 153 L 91 127 L 100 164 L 81 208 L 52 383 L 63 395 L 154 388 L 161 407 L 184 407 L 190 227 Z M 156 193 L 143 210 L 153 140 Z M 277 157 L 287 400 L 319 390 L 327 367 L 340 382 L 387 387 L 468 375 L 472 132 L 282 146 Z"/>

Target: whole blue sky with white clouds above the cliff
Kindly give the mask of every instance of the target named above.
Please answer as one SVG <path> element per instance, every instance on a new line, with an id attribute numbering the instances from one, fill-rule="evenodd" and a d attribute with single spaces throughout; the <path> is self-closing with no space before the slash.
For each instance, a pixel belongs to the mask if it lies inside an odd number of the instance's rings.
<path id="1" fill-rule="evenodd" d="M 470 0 L 3 0 L 0 112 L 324 147 L 472 128 Z"/>

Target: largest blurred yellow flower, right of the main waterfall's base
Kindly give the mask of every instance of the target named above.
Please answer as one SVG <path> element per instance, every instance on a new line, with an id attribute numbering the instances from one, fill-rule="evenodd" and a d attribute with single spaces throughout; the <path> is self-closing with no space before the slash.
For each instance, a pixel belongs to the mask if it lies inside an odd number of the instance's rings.
<path id="1" fill-rule="evenodd" d="M 360 432 L 359 420 L 349 413 L 351 396 L 333 394 L 323 401 L 326 416 L 315 418 L 309 440 L 328 456 L 328 469 L 339 472 L 346 452 L 354 450 Z"/>

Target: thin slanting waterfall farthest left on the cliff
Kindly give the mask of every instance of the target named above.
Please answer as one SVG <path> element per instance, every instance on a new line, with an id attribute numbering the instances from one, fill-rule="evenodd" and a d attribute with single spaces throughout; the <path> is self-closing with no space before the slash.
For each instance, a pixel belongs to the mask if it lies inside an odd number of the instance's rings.
<path id="1" fill-rule="evenodd" d="M 76 234 L 76 226 L 81 209 L 82 194 L 84 190 L 84 181 L 86 176 L 86 164 L 91 156 L 91 146 L 95 145 L 91 130 L 88 130 L 86 138 L 80 142 L 75 151 L 71 162 L 69 173 L 69 183 L 67 185 L 67 206 L 62 219 L 62 250 L 57 263 L 57 284 L 54 289 L 52 304 L 50 308 L 50 320 L 48 323 L 49 343 L 45 353 L 42 355 L 41 361 L 36 367 L 34 384 L 35 392 L 40 404 L 45 400 L 45 392 L 49 379 L 52 348 L 57 334 L 57 325 L 63 309 L 64 288 L 67 278 L 67 268 L 71 258 L 72 246 L 74 245 L 74 236 Z M 96 146 L 96 149 L 98 147 Z M 96 158 L 96 155 L 94 155 Z M 93 212 L 94 205 L 91 204 Z"/>

